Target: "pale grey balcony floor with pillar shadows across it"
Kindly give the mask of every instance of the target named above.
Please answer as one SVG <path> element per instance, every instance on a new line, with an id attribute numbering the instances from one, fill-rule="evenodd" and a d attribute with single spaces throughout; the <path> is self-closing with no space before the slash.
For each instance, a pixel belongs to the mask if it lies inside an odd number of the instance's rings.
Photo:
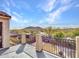
<path id="1" fill-rule="evenodd" d="M 0 58 L 58 58 L 49 52 L 36 52 L 35 47 L 29 44 L 18 44 L 0 50 Z"/>

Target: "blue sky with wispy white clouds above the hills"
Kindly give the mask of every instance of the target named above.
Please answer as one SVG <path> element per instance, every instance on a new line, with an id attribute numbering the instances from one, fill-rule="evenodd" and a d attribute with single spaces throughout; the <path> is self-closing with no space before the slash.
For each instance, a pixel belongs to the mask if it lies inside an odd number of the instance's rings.
<path id="1" fill-rule="evenodd" d="M 79 27 L 79 0 L 0 0 L 10 29 L 28 26 Z"/>

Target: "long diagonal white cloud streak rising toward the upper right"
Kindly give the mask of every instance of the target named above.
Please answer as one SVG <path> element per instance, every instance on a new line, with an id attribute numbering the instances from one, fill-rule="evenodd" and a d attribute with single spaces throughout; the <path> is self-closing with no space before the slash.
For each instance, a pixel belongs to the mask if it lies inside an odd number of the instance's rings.
<path id="1" fill-rule="evenodd" d="M 53 11 L 52 13 L 49 13 L 48 14 L 48 17 L 47 17 L 47 21 L 51 24 L 53 22 L 55 22 L 57 19 L 60 18 L 60 15 L 67 11 L 68 9 L 70 8 L 70 6 L 62 6 L 60 8 L 58 8 L 57 10 Z"/>

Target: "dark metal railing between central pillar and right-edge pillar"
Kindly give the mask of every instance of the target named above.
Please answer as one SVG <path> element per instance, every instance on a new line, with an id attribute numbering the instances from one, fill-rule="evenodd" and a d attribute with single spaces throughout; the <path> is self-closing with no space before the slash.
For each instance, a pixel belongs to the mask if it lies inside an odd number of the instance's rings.
<path id="1" fill-rule="evenodd" d="M 43 37 L 43 49 L 64 58 L 75 58 L 75 40 L 47 39 Z"/>

